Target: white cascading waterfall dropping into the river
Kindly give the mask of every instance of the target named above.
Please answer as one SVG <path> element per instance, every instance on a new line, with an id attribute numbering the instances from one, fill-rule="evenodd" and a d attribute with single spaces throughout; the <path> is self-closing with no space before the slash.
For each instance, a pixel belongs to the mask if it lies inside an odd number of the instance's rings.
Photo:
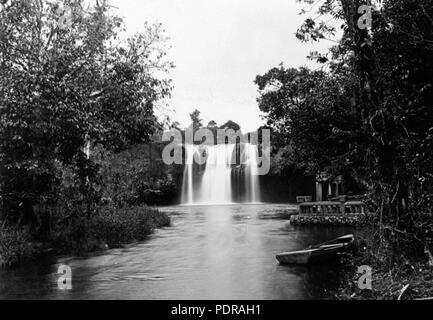
<path id="1" fill-rule="evenodd" d="M 241 166 L 236 166 L 237 148 L 235 144 L 186 145 L 185 149 L 182 204 L 230 204 L 234 202 L 232 190 L 242 190 L 241 201 L 243 202 L 257 203 L 260 201 L 257 146 L 249 143 L 241 145 L 239 148 Z M 194 165 L 194 160 L 197 161 L 203 157 L 203 154 L 205 154 L 205 163 L 200 166 Z M 239 168 L 242 168 L 243 179 L 238 179 Z M 233 170 L 237 171 L 232 179 Z"/>

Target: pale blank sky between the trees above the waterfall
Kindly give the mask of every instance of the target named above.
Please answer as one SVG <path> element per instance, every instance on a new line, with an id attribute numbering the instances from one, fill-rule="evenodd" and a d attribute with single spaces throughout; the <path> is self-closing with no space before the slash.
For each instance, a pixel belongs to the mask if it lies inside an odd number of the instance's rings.
<path id="1" fill-rule="evenodd" d="M 312 50 L 328 43 L 305 44 L 295 37 L 306 16 L 296 0 L 111 0 L 125 18 L 128 32 L 144 21 L 161 22 L 176 68 L 168 100 L 170 117 L 183 127 L 189 114 L 201 111 L 204 124 L 233 120 L 244 132 L 263 124 L 254 79 L 284 62 L 286 67 L 311 65 Z"/>

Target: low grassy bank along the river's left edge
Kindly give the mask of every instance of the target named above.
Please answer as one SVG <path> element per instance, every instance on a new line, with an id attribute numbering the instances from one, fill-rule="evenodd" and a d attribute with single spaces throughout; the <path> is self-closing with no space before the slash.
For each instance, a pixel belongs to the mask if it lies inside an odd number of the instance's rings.
<path id="1" fill-rule="evenodd" d="M 14 266 L 46 251 L 56 254 L 85 254 L 117 248 L 145 240 L 156 228 L 170 225 L 170 218 L 147 206 L 98 207 L 90 216 L 57 218 L 50 235 L 35 241 L 18 227 L 0 224 L 0 268 Z"/>

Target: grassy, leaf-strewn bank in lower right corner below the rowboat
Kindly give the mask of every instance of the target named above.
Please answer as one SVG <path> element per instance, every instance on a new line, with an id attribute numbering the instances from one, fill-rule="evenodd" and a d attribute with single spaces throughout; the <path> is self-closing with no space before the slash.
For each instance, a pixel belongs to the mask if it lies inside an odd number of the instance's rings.
<path id="1" fill-rule="evenodd" d="M 341 300 L 413 300 L 433 298 L 433 265 L 428 255 L 400 263 L 393 261 L 386 240 L 367 231 L 357 252 L 343 258 L 347 275 L 334 298 Z M 371 268 L 371 290 L 358 286 L 358 268 Z M 365 274 L 364 274 L 365 275 Z"/>

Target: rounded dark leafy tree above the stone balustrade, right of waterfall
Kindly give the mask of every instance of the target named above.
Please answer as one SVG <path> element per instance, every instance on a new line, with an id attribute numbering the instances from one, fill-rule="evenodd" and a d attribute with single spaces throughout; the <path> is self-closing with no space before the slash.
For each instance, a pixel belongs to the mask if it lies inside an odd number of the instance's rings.
<path id="1" fill-rule="evenodd" d="M 361 123 L 359 112 L 350 104 L 353 80 L 349 74 L 337 77 L 280 65 L 257 76 L 255 82 L 275 152 L 285 154 L 287 167 L 296 164 L 310 174 L 344 170 L 359 175 L 354 170 L 358 155 L 351 148 Z M 288 169 L 282 161 L 279 167 Z"/>

